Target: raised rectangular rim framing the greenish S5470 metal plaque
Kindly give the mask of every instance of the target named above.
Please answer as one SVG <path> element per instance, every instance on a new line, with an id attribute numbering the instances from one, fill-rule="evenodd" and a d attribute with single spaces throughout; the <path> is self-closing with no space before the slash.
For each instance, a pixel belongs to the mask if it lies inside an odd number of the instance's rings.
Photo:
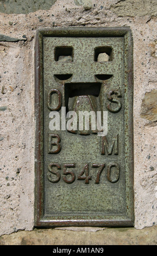
<path id="1" fill-rule="evenodd" d="M 103 220 L 62 220 L 44 215 L 44 162 L 43 162 L 43 36 L 68 37 L 124 37 L 125 56 L 125 155 L 126 157 L 126 216 L 110 216 Z M 134 225 L 134 152 L 133 152 L 133 37 L 130 27 L 86 27 L 39 29 L 35 41 L 35 227 L 95 226 L 133 227 Z M 114 219 L 115 218 L 115 219 Z"/>

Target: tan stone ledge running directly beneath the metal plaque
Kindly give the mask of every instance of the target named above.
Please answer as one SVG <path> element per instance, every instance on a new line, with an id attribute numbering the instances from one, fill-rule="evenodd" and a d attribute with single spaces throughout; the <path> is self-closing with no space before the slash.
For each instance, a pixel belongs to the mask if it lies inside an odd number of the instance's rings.
<path id="1" fill-rule="evenodd" d="M 0 245 L 157 245 L 156 227 L 109 228 L 99 231 L 34 229 L 0 237 Z"/>

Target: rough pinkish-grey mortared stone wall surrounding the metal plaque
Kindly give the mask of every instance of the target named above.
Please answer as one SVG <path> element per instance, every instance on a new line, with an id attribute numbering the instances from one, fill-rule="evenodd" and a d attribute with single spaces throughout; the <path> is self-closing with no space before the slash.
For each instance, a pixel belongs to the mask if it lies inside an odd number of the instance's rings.
<path id="1" fill-rule="evenodd" d="M 0 16 L 0 235 L 34 228 L 34 45 L 53 27 L 131 28 L 135 228 L 156 225 L 156 0 L 1 0 Z"/>

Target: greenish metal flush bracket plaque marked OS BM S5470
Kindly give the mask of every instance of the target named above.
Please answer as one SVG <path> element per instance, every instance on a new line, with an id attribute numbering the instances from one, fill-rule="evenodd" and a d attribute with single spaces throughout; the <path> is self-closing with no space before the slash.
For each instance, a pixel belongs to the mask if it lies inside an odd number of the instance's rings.
<path id="1" fill-rule="evenodd" d="M 91 117 L 71 129 L 84 111 L 108 113 L 103 136 Z M 35 121 L 35 226 L 133 226 L 130 29 L 38 31 Z"/>

